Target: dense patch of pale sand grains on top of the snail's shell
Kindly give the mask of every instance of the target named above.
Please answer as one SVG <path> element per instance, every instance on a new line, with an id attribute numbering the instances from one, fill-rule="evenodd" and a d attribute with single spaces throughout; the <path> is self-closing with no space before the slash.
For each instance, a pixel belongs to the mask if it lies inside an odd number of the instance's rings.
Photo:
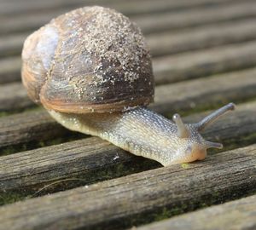
<path id="1" fill-rule="evenodd" d="M 99 78 L 99 82 L 106 80 L 102 76 L 108 72 L 102 67 L 104 60 L 113 63 L 108 68 L 119 65 L 119 69 L 124 72 L 125 81 L 133 82 L 139 78 L 137 72 L 141 71 L 141 66 L 145 66 L 143 56 L 148 56 L 149 59 L 149 53 L 143 34 L 137 25 L 113 9 L 98 6 L 77 9 L 73 14 L 91 15 L 90 23 L 81 26 L 77 36 L 81 37 L 84 49 L 98 59 L 94 73 Z"/>

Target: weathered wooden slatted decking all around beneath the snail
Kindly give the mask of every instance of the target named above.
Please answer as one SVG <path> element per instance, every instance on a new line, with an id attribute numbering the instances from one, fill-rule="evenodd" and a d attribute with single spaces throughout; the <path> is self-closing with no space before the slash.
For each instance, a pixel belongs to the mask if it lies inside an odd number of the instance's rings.
<path id="1" fill-rule="evenodd" d="M 92 4 L 141 26 L 154 111 L 194 122 L 236 102 L 203 134 L 222 151 L 161 167 L 64 129 L 28 99 L 20 82 L 26 36 Z M 0 229 L 256 229 L 254 0 L 2 0 L 0 21 Z"/>

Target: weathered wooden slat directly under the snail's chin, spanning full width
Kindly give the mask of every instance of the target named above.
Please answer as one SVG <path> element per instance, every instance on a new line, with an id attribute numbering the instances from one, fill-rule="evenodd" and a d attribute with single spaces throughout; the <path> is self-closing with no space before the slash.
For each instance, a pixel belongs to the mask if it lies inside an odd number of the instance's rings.
<path id="1" fill-rule="evenodd" d="M 123 229 L 163 210 L 195 210 L 255 192 L 256 145 L 0 208 L 4 229 Z"/>

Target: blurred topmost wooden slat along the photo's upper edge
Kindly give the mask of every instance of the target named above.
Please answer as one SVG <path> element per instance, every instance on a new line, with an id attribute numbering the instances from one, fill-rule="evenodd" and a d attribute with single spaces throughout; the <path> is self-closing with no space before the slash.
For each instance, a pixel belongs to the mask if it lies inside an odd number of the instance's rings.
<path id="1" fill-rule="evenodd" d="M 248 2 L 250 0 L 244 0 Z M 252 0 L 251 0 L 252 1 Z M 144 0 L 144 1 L 102 1 L 102 0 L 73 0 L 72 2 L 67 0 L 62 1 L 47 1 L 46 3 L 25 1 L 18 4 L 17 2 L 5 2 L 2 3 L 0 14 L 26 14 L 30 11 L 46 11 L 49 9 L 58 9 L 64 6 L 70 6 L 77 8 L 84 5 L 102 5 L 107 7 L 115 8 L 124 14 L 154 14 L 155 12 L 166 12 L 167 10 L 182 10 L 189 9 L 192 7 L 204 8 L 216 4 L 229 4 L 237 2 L 237 0 L 181 0 L 181 1 L 170 1 L 170 0 L 159 0 L 157 3 L 154 0 Z"/>

